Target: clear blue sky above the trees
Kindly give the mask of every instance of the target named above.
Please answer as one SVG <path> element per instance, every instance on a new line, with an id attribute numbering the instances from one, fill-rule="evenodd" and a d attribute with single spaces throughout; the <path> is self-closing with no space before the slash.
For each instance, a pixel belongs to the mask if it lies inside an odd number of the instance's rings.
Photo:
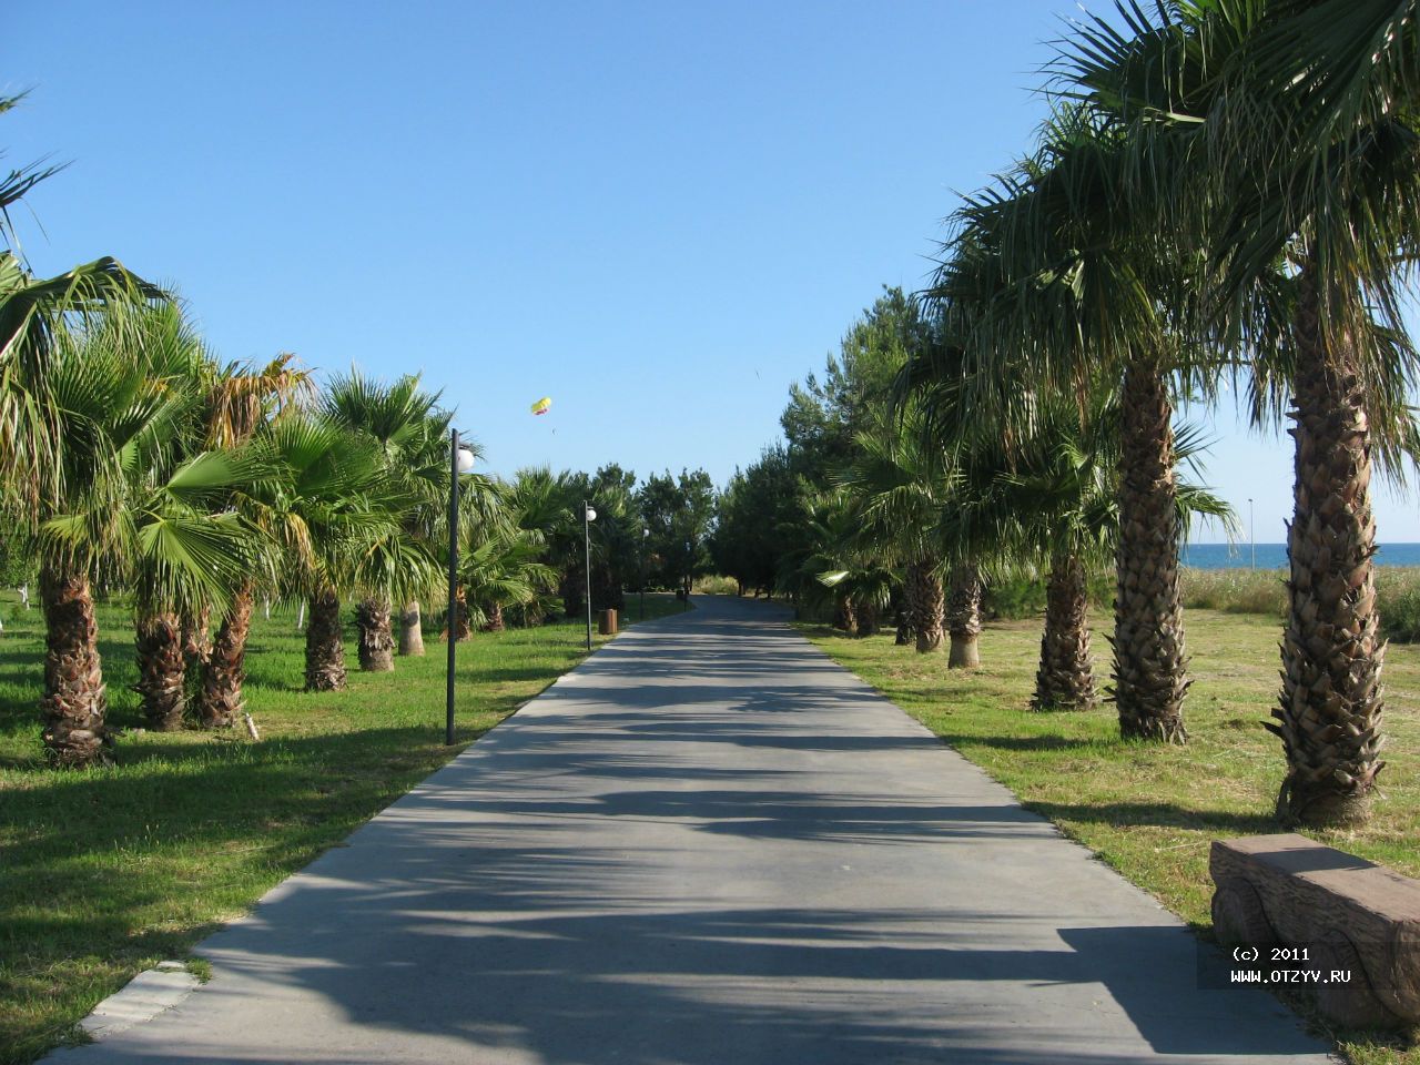
<path id="1" fill-rule="evenodd" d="M 37 270 L 115 254 L 224 358 L 422 371 L 496 471 L 723 483 L 882 284 L 924 284 L 954 192 L 1028 146 L 1076 11 L 23 4 L 0 89 L 33 94 L 0 146 L 72 160 L 16 219 Z M 1216 432 L 1208 480 L 1281 540 L 1289 439 Z M 1420 540 L 1414 501 L 1377 511 Z"/>

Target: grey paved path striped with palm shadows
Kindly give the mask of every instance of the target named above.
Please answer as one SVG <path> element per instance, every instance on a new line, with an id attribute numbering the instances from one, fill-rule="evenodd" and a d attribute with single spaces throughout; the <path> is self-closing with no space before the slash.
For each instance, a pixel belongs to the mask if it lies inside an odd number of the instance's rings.
<path id="1" fill-rule="evenodd" d="M 1319 1065 L 1177 920 L 761 604 L 598 652 L 77 1065 Z"/>

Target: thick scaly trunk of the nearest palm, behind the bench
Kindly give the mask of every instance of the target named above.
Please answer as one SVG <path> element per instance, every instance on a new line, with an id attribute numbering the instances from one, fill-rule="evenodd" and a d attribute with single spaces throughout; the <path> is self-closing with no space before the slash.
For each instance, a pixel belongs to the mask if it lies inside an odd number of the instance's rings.
<path id="1" fill-rule="evenodd" d="M 1291 581 L 1281 704 L 1272 710 L 1278 724 L 1267 727 L 1287 751 L 1278 815 L 1312 826 L 1350 825 L 1369 816 L 1384 767 L 1370 429 L 1355 349 L 1322 325 L 1315 264 L 1299 280 Z"/>

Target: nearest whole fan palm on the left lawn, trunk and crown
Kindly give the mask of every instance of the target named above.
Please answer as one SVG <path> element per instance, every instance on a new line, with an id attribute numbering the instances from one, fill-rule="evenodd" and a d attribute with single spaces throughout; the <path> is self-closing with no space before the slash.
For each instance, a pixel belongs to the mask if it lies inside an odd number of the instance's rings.
<path id="1" fill-rule="evenodd" d="M 142 599 L 179 609 L 224 602 L 236 577 L 241 530 L 213 504 L 246 471 L 222 453 L 165 463 L 190 413 L 190 352 L 133 342 L 145 329 L 162 334 L 170 314 L 141 312 L 136 329 L 95 320 L 50 334 L 44 389 L 65 449 L 61 488 L 41 497 L 36 520 L 47 628 L 41 714 L 61 765 L 94 763 L 109 743 L 89 592 L 99 567 L 141 574 Z"/>

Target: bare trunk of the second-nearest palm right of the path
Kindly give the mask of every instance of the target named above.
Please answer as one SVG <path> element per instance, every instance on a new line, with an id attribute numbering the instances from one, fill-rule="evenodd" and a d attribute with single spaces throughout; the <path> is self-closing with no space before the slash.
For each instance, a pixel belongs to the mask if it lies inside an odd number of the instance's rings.
<path id="1" fill-rule="evenodd" d="M 1173 408 L 1157 362 L 1129 364 L 1123 405 L 1113 670 L 1119 731 L 1126 740 L 1186 743 L 1183 696 L 1190 682 L 1179 591 Z"/>

